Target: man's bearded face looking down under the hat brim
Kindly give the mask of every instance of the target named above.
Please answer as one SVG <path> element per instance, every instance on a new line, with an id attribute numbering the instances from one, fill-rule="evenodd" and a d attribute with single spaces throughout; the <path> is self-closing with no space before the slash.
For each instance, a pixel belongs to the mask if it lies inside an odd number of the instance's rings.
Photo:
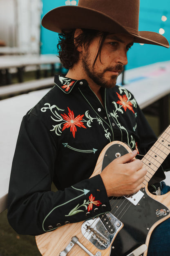
<path id="1" fill-rule="evenodd" d="M 116 85 L 123 66 L 128 63 L 127 52 L 133 45 L 133 37 L 125 34 L 109 34 L 101 49 L 101 60 L 99 55 L 93 68 L 99 41 L 100 37 L 96 37 L 88 48 L 83 48 L 82 69 L 87 80 L 90 79 L 101 87 L 112 88 Z"/>

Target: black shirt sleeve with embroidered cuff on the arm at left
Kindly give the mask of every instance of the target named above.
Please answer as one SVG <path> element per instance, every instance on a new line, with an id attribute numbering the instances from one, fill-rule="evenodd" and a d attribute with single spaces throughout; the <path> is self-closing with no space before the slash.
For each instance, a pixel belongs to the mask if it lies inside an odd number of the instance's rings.
<path id="1" fill-rule="evenodd" d="M 8 220 L 17 233 L 39 235 L 111 210 L 100 175 L 52 192 L 56 158 L 54 138 L 42 121 L 27 114 L 21 123 L 9 183 Z"/>

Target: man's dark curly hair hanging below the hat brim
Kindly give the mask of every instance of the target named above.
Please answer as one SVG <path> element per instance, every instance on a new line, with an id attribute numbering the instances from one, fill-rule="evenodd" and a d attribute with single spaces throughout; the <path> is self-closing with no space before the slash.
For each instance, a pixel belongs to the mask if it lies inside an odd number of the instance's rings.
<path id="1" fill-rule="evenodd" d="M 63 67 L 65 67 L 65 69 L 72 69 L 73 65 L 78 61 L 79 58 L 80 53 L 77 50 L 78 46 L 88 47 L 95 37 L 101 36 L 99 41 L 98 53 L 93 63 L 94 68 L 98 55 L 101 55 L 101 48 L 108 33 L 98 30 L 82 29 L 82 33 L 79 34 L 78 37 L 74 38 L 75 31 L 75 29 L 69 31 L 62 31 L 62 33 L 58 35 L 59 40 L 57 48 L 60 62 L 63 64 Z"/>

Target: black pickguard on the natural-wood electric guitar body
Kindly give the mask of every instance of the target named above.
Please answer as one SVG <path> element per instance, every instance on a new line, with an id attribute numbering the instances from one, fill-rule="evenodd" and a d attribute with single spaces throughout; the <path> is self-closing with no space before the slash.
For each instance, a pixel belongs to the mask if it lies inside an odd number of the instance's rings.
<path id="1" fill-rule="evenodd" d="M 105 153 L 102 170 L 116 158 L 116 153 L 125 155 L 128 151 L 120 144 L 110 146 Z M 145 189 L 141 189 L 141 191 L 144 195 L 139 201 L 139 205 L 136 206 L 125 197 L 110 200 L 111 213 L 124 225 L 112 243 L 114 249 L 110 256 L 126 256 L 140 245 L 145 244 L 152 225 L 165 217 L 165 215 L 157 215 L 157 210 L 163 209 L 166 210 L 164 212 L 166 216 L 169 214 L 166 206 L 152 199 Z"/>

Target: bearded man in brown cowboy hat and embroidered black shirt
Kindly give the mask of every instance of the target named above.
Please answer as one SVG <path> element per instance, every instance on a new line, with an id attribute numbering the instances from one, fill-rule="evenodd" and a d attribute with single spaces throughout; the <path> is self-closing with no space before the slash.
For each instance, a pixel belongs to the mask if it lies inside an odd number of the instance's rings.
<path id="1" fill-rule="evenodd" d="M 22 120 L 8 207 L 18 233 L 38 235 L 109 212 L 108 197 L 143 187 L 146 169 L 135 157 L 157 138 L 132 94 L 116 86 L 116 78 L 134 42 L 169 44 L 160 34 L 139 32 L 138 20 L 139 0 L 80 0 L 42 19 L 47 29 L 62 32 L 59 56 L 69 71 L 55 76 L 55 86 Z M 132 153 L 89 178 L 101 150 L 114 140 L 130 145 Z M 167 158 L 164 167 L 169 163 Z M 52 181 L 57 192 L 51 192 Z M 149 248 L 148 255 L 160 250 L 166 255 L 168 243 L 164 251 L 162 244 L 157 251 Z"/>

